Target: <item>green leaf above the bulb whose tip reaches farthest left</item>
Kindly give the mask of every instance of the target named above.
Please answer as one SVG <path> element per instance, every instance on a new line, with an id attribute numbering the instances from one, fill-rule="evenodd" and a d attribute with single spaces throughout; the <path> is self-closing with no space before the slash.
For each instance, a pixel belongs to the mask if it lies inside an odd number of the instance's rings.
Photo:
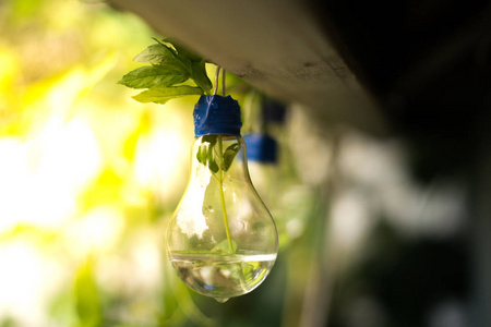
<path id="1" fill-rule="evenodd" d="M 118 83 L 132 88 L 151 88 L 172 86 L 189 77 L 189 73 L 177 65 L 145 65 L 129 72 Z"/>

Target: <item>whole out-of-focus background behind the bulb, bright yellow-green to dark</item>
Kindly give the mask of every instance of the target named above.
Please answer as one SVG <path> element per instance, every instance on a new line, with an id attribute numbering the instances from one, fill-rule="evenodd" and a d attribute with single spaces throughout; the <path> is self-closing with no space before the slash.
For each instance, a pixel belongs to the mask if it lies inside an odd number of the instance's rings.
<path id="1" fill-rule="evenodd" d="M 0 2 L 1 327 L 468 326 L 466 181 L 418 178 L 404 140 L 295 105 L 267 123 L 278 162 L 250 162 L 280 232 L 272 274 L 225 304 L 188 290 L 164 238 L 197 98 L 117 84 L 152 37 L 98 1 Z M 243 132 L 264 131 L 260 90 L 229 84 Z"/>

